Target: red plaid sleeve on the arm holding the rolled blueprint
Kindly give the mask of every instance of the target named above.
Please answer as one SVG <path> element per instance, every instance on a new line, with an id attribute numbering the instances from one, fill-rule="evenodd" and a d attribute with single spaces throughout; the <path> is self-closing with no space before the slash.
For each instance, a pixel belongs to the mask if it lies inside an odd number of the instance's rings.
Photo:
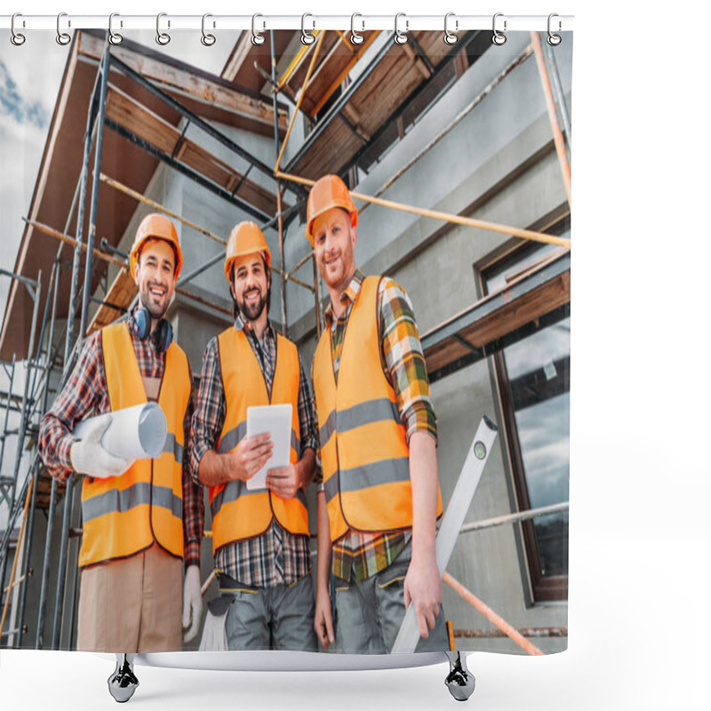
<path id="1" fill-rule="evenodd" d="M 77 439 L 71 434 L 76 422 L 94 408 L 97 414 L 109 409 L 107 398 L 101 396 L 107 387 L 100 339 L 96 332 L 86 340 L 67 383 L 40 423 L 40 455 L 47 471 L 60 482 L 73 473 L 69 452 Z"/>

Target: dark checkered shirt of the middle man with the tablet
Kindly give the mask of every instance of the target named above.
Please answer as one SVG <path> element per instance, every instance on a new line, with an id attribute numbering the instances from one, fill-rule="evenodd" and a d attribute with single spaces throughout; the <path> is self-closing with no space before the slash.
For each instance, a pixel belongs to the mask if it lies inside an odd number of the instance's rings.
<path id="1" fill-rule="evenodd" d="M 242 316 L 237 316 L 235 327 L 244 331 L 258 363 L 268 390 L 271 390 L 276 366 L 276 333 L 268 322 L 264 337 L 260 341 Z M 308 380 L 304 376 L 299 359 L 299 425 L 300 457 L 310 448 L 316 451 L 316 417 Z M 193 415 L 191 441 L 191 464 L 193 478 L 197 478 L 200 460 L 208 450 L 216 450 L 220 433 L 227 414 L 227 401 L 220 372 L 220 354 L 217 339 L 212 339 L 205 348 L 200 390 L 197 395 Z M 294 535 L 285 531 L 276 520 L 272 520 L 268 530 L 253 539 L 241 540 L 221 547 L 215 555 L 215 567 L 244 585 L 253 587 L 274 587 L 293 582 L 311 571 L 311 553 L 308 536 Z"/>

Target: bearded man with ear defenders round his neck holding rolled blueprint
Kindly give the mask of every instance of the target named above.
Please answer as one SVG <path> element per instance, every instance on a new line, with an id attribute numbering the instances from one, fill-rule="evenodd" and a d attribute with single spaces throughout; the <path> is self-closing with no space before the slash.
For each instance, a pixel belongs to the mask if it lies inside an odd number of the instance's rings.
<path id="1" fill-rule="evenodd" d="M 117 653 L 181 651 L 180 586 L 186 577 L 182 623 L 186 641 L 200 624 L 202 490 L 190 475 L 193 411 L 188 358 L 172 340 L 165 312 L 182 267 L 171 220 L 141 220 L 131 250 L 139 303 L 84 343 L 74 371 L 40 427 L 39 449 L 52 476 L 84 475 L 81 587 L 77 648 Z M 118 459 L 101 446 L 108 427 L 97 423 L 83 439 L 76 422 L 157 402 L 168 437 L 156 459 Z"/>

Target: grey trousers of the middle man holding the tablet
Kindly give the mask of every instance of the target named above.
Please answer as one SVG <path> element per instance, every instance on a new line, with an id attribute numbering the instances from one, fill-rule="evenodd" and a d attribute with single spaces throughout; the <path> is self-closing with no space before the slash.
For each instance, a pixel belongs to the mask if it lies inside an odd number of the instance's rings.
<path id="1" fill-rule="evenodd" d="M 225 620 L 228 649 L 317 651 L 314 582 L 310 575 L 292 585 L 235 591 Z"/>

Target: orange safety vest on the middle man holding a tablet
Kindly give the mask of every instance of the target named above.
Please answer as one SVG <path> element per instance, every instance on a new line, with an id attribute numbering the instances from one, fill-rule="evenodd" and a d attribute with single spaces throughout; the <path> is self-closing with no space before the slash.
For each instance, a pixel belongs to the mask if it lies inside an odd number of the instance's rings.
<path id="1" fill-rule="evenodd" d="M 299 460 L 299 354 L 292 341 L 276 335 L 276 367 L 269 393 L 257 356 L 243 331 L 232 326 L 218 336 L 222 386 L 227 412 L 217 443 L 222 454 L 236 450 L 247 433 L 247 408 L 258 405 L 292 405 L 290 461 Z M 308 510 L 303 489 L 293 499 L 282 499 L 268 489 L 247 489 L 236 480 L 210 487 L 212 551 L 267 531 L 273 518 L 286 530 L 308 536 Z"/>

